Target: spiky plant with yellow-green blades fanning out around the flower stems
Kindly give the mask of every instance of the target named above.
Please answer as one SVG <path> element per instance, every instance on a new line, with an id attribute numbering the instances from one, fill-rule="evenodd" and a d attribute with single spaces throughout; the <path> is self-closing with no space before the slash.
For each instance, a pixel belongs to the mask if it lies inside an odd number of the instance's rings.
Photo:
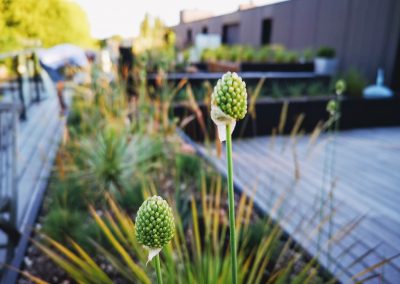
<path id="1" fill-rule="evenodd" d="M 210 188 L 206 188 L 204 181 L 202 184 L 199 199 L 187 200 L 188 216 L 183 216 L 174 202 L 170 202 L 176 232 L 163 250 L 165 283 L 232 283 L 231 257 L 225 246 L 228 220 L 221 215 L 225 210 L 222 180 L 214 176 Z M 109 195 L 106 200 L 108 210 L 100 215 L 90 207 L 90 215 L 109 248 L 92 240 L 97 253 L 91 256 L 75 240 L 60 243 L 44 237 L 42 242 L 34 241 L 35 245 L 80 283 L 112 283 L 116 275 L 128 283 L 151 283 L 155 275 L 149 273 L 145 251 L 136 238 L 138 224 Z M 288 253 L 293 241 L 283 239 L 283 231 L 269 218 L 255 223 L 253 209 L 253 199 L 242 195 L 236 207 L 238 282 L 285 283 L 292 279 L 296 283 L 321 283 L 315 272 L 318 268 L 315 260 L 304 261 L 304 266 L 296 265 L 298 254 Z M 184 217 L 189 219 L 189 225 L 184 225 Z M 107 260 L 112 274 L 101 269 L 98 263 L 101 259 L 103 263 Z M 287 259 L 288 265 L 279 264 L 283 259 Z"/>

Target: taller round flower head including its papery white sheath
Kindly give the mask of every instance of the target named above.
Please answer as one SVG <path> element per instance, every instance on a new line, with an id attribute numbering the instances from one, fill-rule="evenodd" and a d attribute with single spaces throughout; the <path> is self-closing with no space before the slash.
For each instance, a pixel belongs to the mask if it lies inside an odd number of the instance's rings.
<path id="1" fill-rule="evenodd" d="M 218 80 L 211 96 L 211 118 L 218 126 L 221 141 L 225 140 L 222 127 L 230 124 L 233 131 L 236 121 L 244 118 L 246 113 L 246 83 L 238 74 L 227 72 Z"/>

